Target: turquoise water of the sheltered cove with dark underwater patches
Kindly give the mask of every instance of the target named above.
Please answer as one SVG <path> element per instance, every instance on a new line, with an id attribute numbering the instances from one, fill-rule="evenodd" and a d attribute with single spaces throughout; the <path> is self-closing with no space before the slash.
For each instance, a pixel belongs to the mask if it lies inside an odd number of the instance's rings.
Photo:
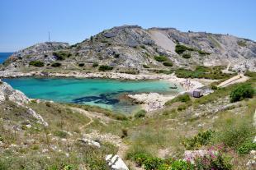
<path id="1" fill-rule="evenodd" d="M 130 103 L 124 94 L 157 92 L 178 93 L 167 81 L 159 80 L 107 80 L 75 78 L 16 78 L 4 79 L 14 89 L 29 98 L 47 99 L 64 103 L 97 105 L 116 112 L 131 113 L 138 105 Z"/>

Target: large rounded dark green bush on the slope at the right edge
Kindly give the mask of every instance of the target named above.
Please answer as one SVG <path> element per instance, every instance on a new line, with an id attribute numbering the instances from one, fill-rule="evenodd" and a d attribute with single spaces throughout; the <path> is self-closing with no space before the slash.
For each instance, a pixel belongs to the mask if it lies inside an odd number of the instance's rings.
<path id="1" fill-rule="evenodd" d="M 246 98 L 254 97 L 254 88 L 251 85 L 240 85 L 230 93 L 230 102 L 237 102 Z"/>

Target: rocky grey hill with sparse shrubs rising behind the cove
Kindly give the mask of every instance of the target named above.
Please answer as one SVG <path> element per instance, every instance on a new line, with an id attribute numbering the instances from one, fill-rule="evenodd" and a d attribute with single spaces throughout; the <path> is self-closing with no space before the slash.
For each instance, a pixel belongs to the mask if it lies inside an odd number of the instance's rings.
<path id="1" fill-rule="evenodd" d="M 123 25 L 103 30 L 71 46 L 46 42 L 22 49 L 14 53 L 2 69 L 98 71 L 98 66 L 106 65 L 116 72 L 149 73 L 221 65 L 229 66 L 228 70 L 255 71 L 255 58 L 256 43 L 249 39 L 229 34 Z M 37 66 L 33 61 L 42 63 Z"/>

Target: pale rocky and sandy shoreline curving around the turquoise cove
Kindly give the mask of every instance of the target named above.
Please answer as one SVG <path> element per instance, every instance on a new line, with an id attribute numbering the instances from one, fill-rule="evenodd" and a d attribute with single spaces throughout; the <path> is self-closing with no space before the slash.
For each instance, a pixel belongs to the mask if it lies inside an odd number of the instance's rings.
<path id="1" fill-rule="evenodd" d="M 94 72 L 94 73 L 80 73 L 73 71 L 73 73 L 64 74 L 64 73 L 45 73 L 40 71 L 31 71 L 28 73 L 22 72 L 6 72 L 0 71 L 0 78 L 19 78 L 19 77 L 49 77 L 49 78 L 102 78 L 102 79 L 113 79 L 113 80 L 166 80 L 168 83 L 174 85 L 180 85 L 183 90 L 178 92 L 178 94 L 183 94 L 200 88 L 203 86 L 199 80 L 184 79 L 178 78 L 177 76 L 172 75 L 149 75 L 149 74 L 139 74 L 139 75 L 130 75 L 126 73 L 116 73 L 116 72 Z M 158 93 L 149 93 L 149 94 L 128 94 L 127 96 L 130 99 L 134 99 L 137 102 L 141 103 L 140 106 L 145 109 L 145 111 L 150 112 L 164 108 L 164 103 L 168 100 L 175 98 L 178 94 L 164 95 Z"/>

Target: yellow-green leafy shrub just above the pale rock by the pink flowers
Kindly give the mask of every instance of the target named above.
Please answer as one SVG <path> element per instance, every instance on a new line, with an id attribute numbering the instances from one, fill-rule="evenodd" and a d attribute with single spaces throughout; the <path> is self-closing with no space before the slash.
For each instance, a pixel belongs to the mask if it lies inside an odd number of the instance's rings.
<path id="1" fill-rule="evenodd" d="M 183 140 L 183 145 L 186 149 L 199 149 L 202 145 L 209 144 L 213 134 L 214 131 L 211 130 L 199 132 L 197 136 Z"/>

